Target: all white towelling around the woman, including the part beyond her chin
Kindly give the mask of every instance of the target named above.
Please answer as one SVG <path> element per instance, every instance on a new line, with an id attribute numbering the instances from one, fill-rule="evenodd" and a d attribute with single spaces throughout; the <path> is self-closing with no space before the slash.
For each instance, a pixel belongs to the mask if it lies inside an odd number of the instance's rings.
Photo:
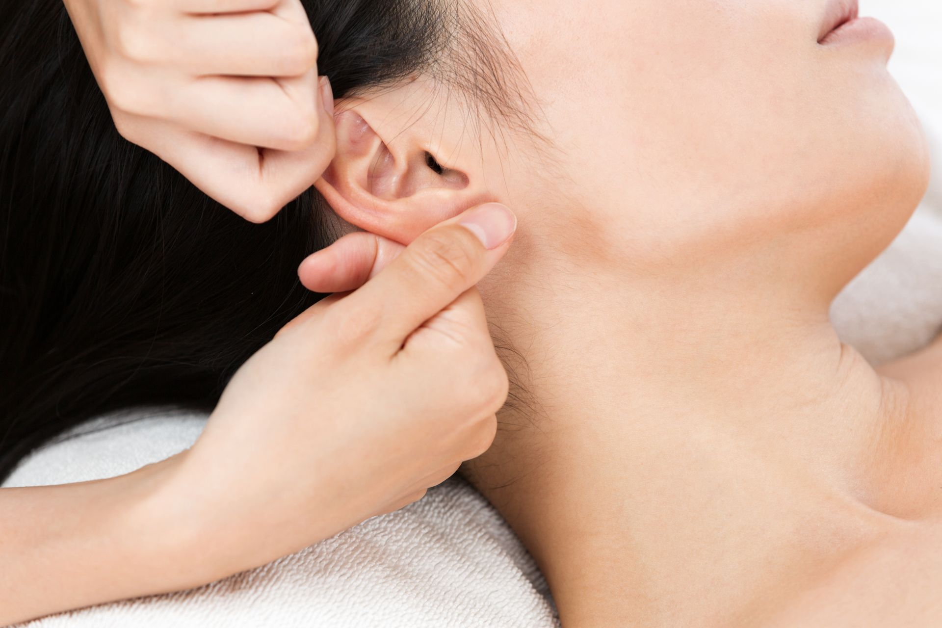
<path id="1" fill-rule="evenodd" d="M 942 112 L 936 115 L 929 121 L 931 132 L 942 129 Z M 936 138 L 937 164 L 942 164 L 940 147 Z M 926 205 L 890 249 L 836 299 L 832 316 L 841 337 L 872 362 L 923 346 L 942 327 L 942 180 L 936 178 Z M 82 436 L 42 449 L 24 461 L 8 486 L 126 473 L 186 448 L 205 422 L 203 416 L 157 411 L 126 418 L 138 420 L 101 420 L 83 428 Z M 26 625 L 541 628 L 558 623 L 544 580 L 519 540 L 477 491 L 453 477 L 410 507 L 260 569 L 203 588 Z"/>

